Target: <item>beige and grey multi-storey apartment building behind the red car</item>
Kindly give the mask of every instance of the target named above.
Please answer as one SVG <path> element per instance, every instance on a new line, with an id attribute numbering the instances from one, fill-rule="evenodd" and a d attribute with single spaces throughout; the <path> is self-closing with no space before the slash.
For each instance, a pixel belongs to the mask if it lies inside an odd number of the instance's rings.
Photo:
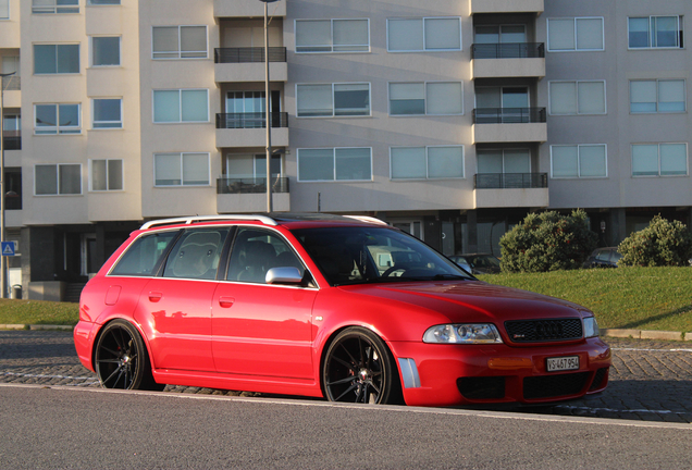
<path id="1" fill-rule="evenodd" d="M 5 221 L 65 298 L 144 220 L 370 214 L 447 255 L 530 211 L 690 224 L 688 0 L 0 0 Z M 269 101 L 269 104 L 267 102 Z"/>

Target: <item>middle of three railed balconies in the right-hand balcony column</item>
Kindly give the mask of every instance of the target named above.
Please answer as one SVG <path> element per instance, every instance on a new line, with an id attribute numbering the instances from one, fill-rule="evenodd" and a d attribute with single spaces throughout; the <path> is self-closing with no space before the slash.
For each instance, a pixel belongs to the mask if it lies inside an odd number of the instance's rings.
<path id="1" fill-rule="evenodd" d="M 473 110 L 473 144 L 544 143 L 545 108 L 478 108 Z"/>

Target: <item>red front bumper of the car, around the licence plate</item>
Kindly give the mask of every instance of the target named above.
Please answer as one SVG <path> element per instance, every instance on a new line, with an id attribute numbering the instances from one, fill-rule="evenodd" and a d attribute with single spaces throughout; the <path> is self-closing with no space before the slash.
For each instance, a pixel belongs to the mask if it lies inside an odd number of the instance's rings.
<path id="1" fill-rule="evenodd" d="M 610 348 L 600 338 L 530 347 L 393 342 L 404 399 L 412 406 L 543 404 L 602 392 Z M 546 359 L 579 356 L 579 370 L 548 372 Z M 412 379 L 411 379 L 412 378 Z"/>

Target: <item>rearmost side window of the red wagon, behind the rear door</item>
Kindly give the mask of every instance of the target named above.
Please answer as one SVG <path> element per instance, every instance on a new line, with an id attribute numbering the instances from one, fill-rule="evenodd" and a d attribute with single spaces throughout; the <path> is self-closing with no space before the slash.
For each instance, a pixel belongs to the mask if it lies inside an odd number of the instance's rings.
<path id="1" fill-rule="evenodd" d="M 178 231 L 145 235 L 135 240 L 111 270 L 111 275 L 150 276 Z"/>

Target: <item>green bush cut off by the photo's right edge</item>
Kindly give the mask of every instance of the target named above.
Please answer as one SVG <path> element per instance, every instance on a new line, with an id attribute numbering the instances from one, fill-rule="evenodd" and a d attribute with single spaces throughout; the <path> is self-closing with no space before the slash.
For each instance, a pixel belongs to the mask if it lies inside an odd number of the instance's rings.
<path id="1" fill-rule="evenodd" d="M 692 257 L 692 235 L 682 222 L 656 215 L 646 228 L 625 238 L 618 251 L 618 265 L 684 267 Z"/>

